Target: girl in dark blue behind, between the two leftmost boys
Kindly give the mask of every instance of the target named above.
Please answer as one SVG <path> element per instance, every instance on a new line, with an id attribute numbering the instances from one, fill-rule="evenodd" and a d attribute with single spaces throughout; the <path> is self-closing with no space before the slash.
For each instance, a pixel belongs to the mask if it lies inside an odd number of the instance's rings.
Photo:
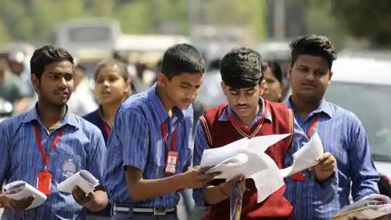
<path id="1" fill-rule="evenodd" d="M 94 79 L 99 108 L 83 118 L 102 131 L 107 143 L 115 113 L 132 92 L 129 74 L 124 63 L 117 60 L 104 60 L 98 64 Z M 100 212 L 87 212 L 87 215 L 90 220 L 109 220 L 111 204 Z"/>

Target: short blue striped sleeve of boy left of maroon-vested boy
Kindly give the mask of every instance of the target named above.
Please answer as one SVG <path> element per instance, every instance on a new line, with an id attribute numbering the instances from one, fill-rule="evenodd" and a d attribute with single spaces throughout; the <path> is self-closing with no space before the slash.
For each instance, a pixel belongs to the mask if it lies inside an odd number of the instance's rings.
<path id="1" fill-rule="evenodd" d="M 145 116 L 126 109 L 119 112 L 114 126 L 124 166 L 143 171 L 149 152 L 149 128 Z"/>

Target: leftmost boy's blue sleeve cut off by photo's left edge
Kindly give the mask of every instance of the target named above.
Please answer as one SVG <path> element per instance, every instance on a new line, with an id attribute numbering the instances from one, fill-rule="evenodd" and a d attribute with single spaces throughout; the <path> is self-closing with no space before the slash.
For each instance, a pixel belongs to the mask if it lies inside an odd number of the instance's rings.
<path id="1" fill-rule="evenodd" d="M 2 145 L 0 147 L 0 186 L 2 186 L 5 177 L 7 176 L 7 170 L 10 168 L 9 146 L 12 145 L 5 121 L 0 123 L 0 137 L 2 139 Z"/>

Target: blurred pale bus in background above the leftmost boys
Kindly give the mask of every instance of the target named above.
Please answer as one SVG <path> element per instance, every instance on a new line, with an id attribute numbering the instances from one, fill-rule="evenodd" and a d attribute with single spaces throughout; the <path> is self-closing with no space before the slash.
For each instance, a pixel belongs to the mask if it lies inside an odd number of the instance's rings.
<path id="1" fill-rule="evenodd" d="M 76 54 L 79 49 L 113 50 L 121 35 L 120 23 L 106 18 L 69 20 L 57 25 L 54 44 Z"/>

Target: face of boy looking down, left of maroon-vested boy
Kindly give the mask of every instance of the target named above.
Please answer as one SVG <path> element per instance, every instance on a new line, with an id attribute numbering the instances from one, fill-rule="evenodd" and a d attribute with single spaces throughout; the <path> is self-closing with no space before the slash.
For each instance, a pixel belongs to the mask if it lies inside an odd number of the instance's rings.
<path id="1" fill-rule="evenodd" d="M 163 78 L 165 78 L 163 80 L 171 103 L 184 110 L 190 106 L 195 96 L 197 96 L 198 89 L 203 81 L 203 74 L 182 72 L 171 80 L 168 80 L 165 76 Z"/>

